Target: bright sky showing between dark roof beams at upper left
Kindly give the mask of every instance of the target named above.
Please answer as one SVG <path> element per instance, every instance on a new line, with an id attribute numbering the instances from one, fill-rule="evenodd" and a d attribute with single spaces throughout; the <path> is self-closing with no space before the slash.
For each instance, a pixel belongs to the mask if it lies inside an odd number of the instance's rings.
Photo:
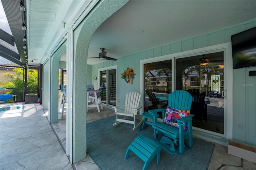
<path id="1" fill-rule="evenodd" d="M 11 32 L 10 26 L 8 24 L 8 21 L 7 21 L 7 18 L 6 18 L 1 0 L 0 0 L 0 28 L 2 30 L 4 30 L 5 32 L 12 35 L 12 32 Z M 13 63 L 13 62 L 11 62 L 10 60 L 7 60 L 7 59 L 3 58 L 2 56 L 0 56 L 0 64 L 7 64 L 7 63 Z"/>

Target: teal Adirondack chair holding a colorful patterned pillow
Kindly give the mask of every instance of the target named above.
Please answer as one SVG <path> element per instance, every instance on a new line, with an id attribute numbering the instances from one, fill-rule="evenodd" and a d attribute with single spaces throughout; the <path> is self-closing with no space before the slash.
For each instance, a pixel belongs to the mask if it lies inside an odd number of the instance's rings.
<path id="1" fill-rule="evenodd" d="M 176 90 L 168 96 L 168 106 L 177 110 L 190 110 L 192 104 L 192 96 L 184 90 Z M 162 112 L 162 122 L 158 122 L 157 112 Z M 148 110 L 148 113 L 153 116 L 152 127 L 154 128 L 154 138 L 162 133 L 164 136 L 157 141 L 162 147 L 171 154 L 180 154 L 189 150 L 193 145 L 192 137 L 192 114 L 176 119 L 179 125 L 178 128 L 164 123 L 165 109 Z M 143 114 L 142 114 L 143 116 Z M 184 126 L 188 130 L 184 130 Z M 184 139 L 188 139 L 188 145 L 184 144 Z"/>

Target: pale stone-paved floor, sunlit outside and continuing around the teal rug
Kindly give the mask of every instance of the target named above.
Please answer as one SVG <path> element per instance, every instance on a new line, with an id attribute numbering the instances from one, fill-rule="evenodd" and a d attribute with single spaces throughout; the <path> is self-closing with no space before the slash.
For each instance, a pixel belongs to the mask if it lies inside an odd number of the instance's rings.
<path id="1" fill-rule="evenodd" d="M 48 111 L 42 110 L 42 105 L 24 104 L 24 102 L 0 105 L 1 108 L 13 106 L 20 106 L 20 109 L 0 112 L 1 169 L 22 167 L 38 170 L 46 168 L 53 170 L 61 167 L 69 170 L 100 169 L 88 155 L 73 167 L 68 161 L 65 154 L 66 110 L 63 117 L 59 114 L 58 122 L 49 124 Z M 87 123 L 90 123 L 114 116 L 114 110 L 104 107 L 98 112 L 97 108 L 92 108 L 86 114 Z M 158 166 L 159 169 L 165 168 L 162 164 Z M 227 146 L 215 144 L 208 170 L 225 167 L 232 169 L 232 166 L 255 170 L 256 164 L 228 154 Z"/>

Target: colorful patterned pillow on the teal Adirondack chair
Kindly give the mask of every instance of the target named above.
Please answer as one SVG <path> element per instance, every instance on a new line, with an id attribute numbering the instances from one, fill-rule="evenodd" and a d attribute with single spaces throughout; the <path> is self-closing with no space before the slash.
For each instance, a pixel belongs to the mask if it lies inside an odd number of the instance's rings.
<path id="1" fill-rule="evenodd" d="M 165 115 L 164 115 L 164 122 L 166 124 L 170 124 L 171 126 L 179 128 L 179 125 L 176 119 L 188 116 L 189 113 L 190 113 L 190 110 L 177 110 L 177 109 L 171 108 L 170 106 L 167 106 Z M 187 123 L 184 126 L 184 130 L 188 130 Z"/>

